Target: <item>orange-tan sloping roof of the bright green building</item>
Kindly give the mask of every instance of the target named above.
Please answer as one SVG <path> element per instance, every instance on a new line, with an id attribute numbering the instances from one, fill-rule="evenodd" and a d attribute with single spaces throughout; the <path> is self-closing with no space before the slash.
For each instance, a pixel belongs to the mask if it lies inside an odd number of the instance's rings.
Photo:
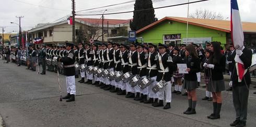
<path id="1" fill-rule="evenodd" d="M 172 21 L 178 21 L 182 23 L 187 23 L 189 21 L 189 24 L 200 26 L 208 29 L 214 29 L 224 32 L 230 32 L 230 21 L 228 20 L 212 20 L 212 19 L 195 19 L 195 18 L 183 18 L 183 17 L 165 17 L 161 20 L 158 20 L 152 24 L 149 24 L 148 26 L 138 30 L 136 33 L 141 33 L 144 30 L 147 30 L 149 28 L 152 28 L 156 24 L 165 21 L 165 20 L 172 20 Z M 254 22 L 242 22 L 242 28 L 243 32 L 256 32 L 256 23 Z"/>

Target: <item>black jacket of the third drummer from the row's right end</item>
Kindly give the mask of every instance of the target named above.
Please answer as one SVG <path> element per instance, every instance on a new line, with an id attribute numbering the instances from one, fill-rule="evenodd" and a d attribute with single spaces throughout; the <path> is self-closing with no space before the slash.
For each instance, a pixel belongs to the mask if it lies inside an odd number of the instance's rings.
<path id="1" fill-rule="evenodd" d="M 138 60 L 141 60 L 141 63 L 143 66 L 147 64 L 147 57 L 148 57 L 148 54 L 145 54 L 144 52 L 142 52 L 139 54 L 139 59 L 137 58 L 137 68 L 138 68 L 137 72 L 140 77 L 144 77 L 147 75 L 147 67 L 140 69 L 139 68 L 140 66 L 138 65 Z"/>

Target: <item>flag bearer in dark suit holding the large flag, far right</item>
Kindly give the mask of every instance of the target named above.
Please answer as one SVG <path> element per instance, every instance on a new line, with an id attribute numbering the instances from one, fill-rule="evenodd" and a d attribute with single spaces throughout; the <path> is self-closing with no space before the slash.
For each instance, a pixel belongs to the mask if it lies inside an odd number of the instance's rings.
<path id="1" fill-rule="evenodd" d="M 247 107 L 248 107 L 248 96 L 249 88 L 251 84 L 251 77 L 248 68 L 252 62 L 252 52 L 243 46 L 241 49 L 236 49 L 236 57 L 240 58 L 240 62 L 243 62 L 244 75 L 238 74 L 238 66 L 240 63 L 236 61 L 234 72 L 231 74 L 232 81 L 232 95 L 233 103 L 236 110 L 236 120 L 231 123 L 231 126 L 246 126 L 247 120 Z"/>

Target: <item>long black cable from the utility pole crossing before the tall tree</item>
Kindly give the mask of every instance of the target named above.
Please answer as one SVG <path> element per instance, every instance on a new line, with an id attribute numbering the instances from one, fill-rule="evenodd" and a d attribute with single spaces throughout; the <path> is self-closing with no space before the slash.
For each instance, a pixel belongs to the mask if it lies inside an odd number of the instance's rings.
<path id="1" fill-rule="evenodd" d="M 162 7 L 156 7 L 156 8 L 141 9 L 141 10 L 133 10 L 133 11 L 123 11 L 123 12 L 107 13 L 107 14 L 104 14 L 104 15 L 115 15 L 115 14 L 124 14 L 124 13 L 130 13 L 130 12 L 146 11 L 146 10 L 153 10 L 153 9 L 160 9 L 160 8 L 181 6 L 181 5 L 186 5 L 186 4 L 194 4 L 194 3 L 204 2 L 204 1 L 210 1 L 210 0 L 201 0 L 201 1 L 195 1 L 195 2 L 188 2 L 188 3 L 176 4 L 176 5 L 169 5 L 169 6 L 162 6 Z M 77 16 L 101 16 L 101 15 L 102 15 L 102 14 L 77 14 Z"/>

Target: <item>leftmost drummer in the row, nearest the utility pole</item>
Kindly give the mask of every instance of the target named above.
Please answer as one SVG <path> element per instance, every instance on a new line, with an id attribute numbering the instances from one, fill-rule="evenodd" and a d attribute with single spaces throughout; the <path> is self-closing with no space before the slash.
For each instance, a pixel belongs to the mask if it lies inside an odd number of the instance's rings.
<path id="1" fill-rule="evenodd" d="M 84 65 L 85 64 L 85 48 L 84 48 L 84 44 L 82 42 L 78 43 L 78 65 Z M 79 83 L 84 83 L 85 82 L 85 72 L 80 71 L 80 75 L 81 75 L 81 80 L 79 80 Z"/>

